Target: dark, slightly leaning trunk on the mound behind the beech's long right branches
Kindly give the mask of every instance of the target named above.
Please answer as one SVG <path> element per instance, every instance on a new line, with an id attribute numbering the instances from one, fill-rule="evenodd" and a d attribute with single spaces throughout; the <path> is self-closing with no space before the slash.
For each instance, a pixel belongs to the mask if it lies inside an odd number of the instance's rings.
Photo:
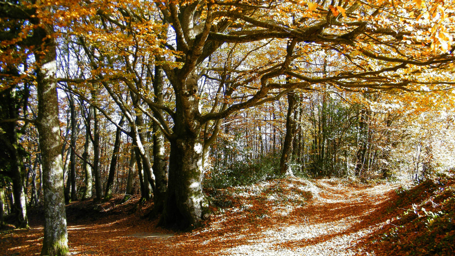
<path id="1" fill-rule="evenodd" d="M 283 152 L 280 159 L 280 174 L 283 175 L 290 170 L 289 162 L 292 154 L 292 142 L 296 133 L 296 108 L 297 98 L 293 92 L 288 93 L 288 114 L 286 116 L 286 135 L 284 137 Z"/>

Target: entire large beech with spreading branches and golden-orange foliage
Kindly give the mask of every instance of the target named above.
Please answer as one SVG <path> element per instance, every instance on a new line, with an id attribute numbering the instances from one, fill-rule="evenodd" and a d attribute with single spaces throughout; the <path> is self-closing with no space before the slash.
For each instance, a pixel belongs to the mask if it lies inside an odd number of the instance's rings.
<path id="1" fill-rule="evenodd" d="M 453 84 L 444 73 L 455 60 L 452 10 L 439 1 L 92 1 L 81 7 L 65 31 L 85 69 L 61 83 L 98 84 L 118 105 L 130 130 L 84 99 L 133 138 L 155 202 L 163 202 L 162 226 L 192 229 L 210 216 L 203 166 L 221 120 L 239 110 L 291 91 L 396 94 Z M 312 72 L 319 55 L 338 65 Z M 64 88 L 84 97 L 82 89 Z M 152 168 L 146 128 L 136 120 L 143 115 L 170 142 L 167 188 L 164 169 Z"/>

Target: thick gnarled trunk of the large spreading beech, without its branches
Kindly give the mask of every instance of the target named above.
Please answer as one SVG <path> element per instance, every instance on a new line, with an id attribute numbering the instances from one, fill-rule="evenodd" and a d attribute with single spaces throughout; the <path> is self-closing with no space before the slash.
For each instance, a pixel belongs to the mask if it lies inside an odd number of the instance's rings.
<path id="1" fill-rule="evenodd" d="M 176 93 L 176 112 L 169 138 L 169 178 L 160 226 L 192 230 L 210 217 L 202 192 L 202 124 L 198 122 L 197 74 L 184 75 L 186 94 Z M 188 93 L 190 92 L 190 93 Z"/>

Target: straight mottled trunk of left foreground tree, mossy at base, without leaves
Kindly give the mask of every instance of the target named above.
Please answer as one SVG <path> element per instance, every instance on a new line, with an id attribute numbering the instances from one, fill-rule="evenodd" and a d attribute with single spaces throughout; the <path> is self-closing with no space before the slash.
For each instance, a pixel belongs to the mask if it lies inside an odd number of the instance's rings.
<path id="1" fill-rule="evenodd" d="M 35 29 L 35 34 L 52 33 L 52 25 L 44 25 L 44 28 Z M 38 96 L 36 126 L 39 132 L 43 162 L 45 211 L 41 255 L 66 256 L 68 254 L 68 234 L 66 231 L 60 121 L 56 90 L 56 42 L 53 38 L 47 38 L 43 44 L 46 44 L 48 51 L 45 54 L 35 53 L 35 59 L 41 62 L 41 66 L 36 72 Z"/>

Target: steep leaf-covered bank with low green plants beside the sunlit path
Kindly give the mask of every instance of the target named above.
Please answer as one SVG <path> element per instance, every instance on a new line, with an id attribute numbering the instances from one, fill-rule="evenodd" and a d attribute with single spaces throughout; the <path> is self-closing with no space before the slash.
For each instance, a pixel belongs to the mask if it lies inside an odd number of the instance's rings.
<path id="1" fill-rule="evenodd" d="M 376 255 L 455 255 L 454 173 L 396 192 L 388 212 L 401 212 L 371 241 Z"/>

